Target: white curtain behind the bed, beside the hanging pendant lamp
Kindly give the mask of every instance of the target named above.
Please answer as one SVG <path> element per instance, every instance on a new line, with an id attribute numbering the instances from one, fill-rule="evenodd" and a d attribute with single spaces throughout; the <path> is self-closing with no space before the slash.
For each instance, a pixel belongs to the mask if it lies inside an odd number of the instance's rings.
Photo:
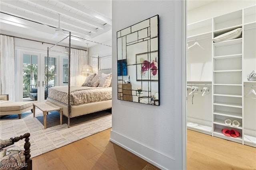
<path id="1" fill-rule="evenodd" d="M 81 73 L 83 65 L 87 64 L 86 51 L 71 48 L 70 55 L 70 86 L 81 86 L 87 74 Z"/>

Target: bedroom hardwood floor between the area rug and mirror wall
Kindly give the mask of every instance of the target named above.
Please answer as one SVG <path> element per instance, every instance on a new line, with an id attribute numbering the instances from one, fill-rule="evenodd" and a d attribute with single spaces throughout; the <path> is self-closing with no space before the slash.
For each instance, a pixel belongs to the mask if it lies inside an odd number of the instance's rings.
<path id="1" fill-rule="evenodd" d="M 33 170 L 142 170 L 149 164 L 110 142 L 110 130 L 32 158 Z"/>

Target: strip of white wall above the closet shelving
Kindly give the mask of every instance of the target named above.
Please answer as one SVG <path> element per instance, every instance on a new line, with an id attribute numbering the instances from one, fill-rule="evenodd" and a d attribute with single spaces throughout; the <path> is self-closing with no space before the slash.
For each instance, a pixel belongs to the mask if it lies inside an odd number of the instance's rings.
<path id="1" fill-rule="evenodd" d="M 210 4 L 201 6 L 200 8 L 188 11 L 188 24 L 241 10 L 242 8 L 255 4 L 256 0 L 216 0 Z"/>

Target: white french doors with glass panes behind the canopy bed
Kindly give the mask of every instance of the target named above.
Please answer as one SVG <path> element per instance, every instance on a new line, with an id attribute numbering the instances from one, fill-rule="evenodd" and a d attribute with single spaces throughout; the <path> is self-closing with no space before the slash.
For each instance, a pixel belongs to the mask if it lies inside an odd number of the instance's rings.
<path id="1" fill-rule="evenodd" d="M 56 86 L 57 56 L 47 59 L 45 53 L 18 49 L 15 69 L 16 101 L 45 101 L 47 84 L 48 88 Z"/>

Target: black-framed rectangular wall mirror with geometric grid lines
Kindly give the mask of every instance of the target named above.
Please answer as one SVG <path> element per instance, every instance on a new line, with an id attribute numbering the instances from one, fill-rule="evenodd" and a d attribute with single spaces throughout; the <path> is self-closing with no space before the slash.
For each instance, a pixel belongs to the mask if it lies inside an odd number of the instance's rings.
<path id="1" fill-rule="evenodd" d="M 119 100 L 159 106 L 158 18 L 117 32 Z"/>

